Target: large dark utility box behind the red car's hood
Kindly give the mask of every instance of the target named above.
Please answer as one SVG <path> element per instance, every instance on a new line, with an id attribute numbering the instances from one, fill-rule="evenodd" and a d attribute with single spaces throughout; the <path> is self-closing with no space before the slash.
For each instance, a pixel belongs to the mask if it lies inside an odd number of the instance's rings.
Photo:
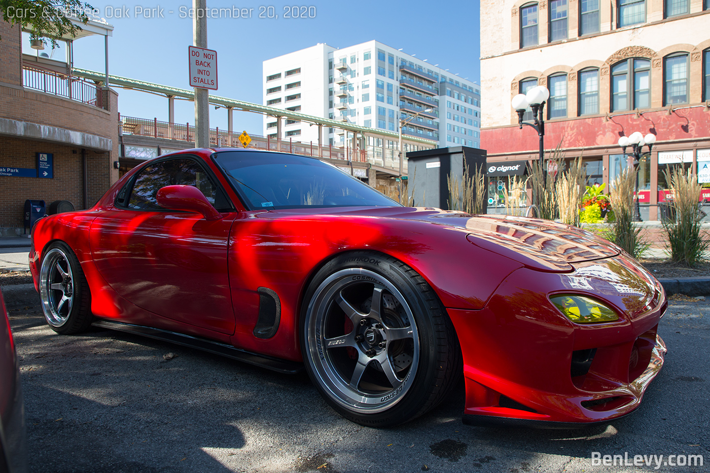
<path id="1" fill-rule="evenodd" d="M 483 173 L 485 182 L 484 149 L 454 146 L 407 153 L 407 189 L 409 197 L 414 197 L 414 205 L 450 210 L 449 178 L 453 177 L 454 182 L 461 183 L 464 179 L 464 163 L 468 166 L 469 178 L 478 169 Z M 486 212 L 486 205 L 481 212 Z"/>

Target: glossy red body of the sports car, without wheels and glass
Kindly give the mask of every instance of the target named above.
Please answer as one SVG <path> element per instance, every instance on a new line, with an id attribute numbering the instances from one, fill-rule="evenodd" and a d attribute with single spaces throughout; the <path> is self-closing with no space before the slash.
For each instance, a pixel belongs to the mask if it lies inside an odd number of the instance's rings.
<path id="1" fill-rule="evenodd" d="M 662 286 L 599 237 L 543 220 L 431 208 L 246 210 L 211 160 L 215 151 L 186 152 L 210 166 L 236 212 L 206 219 L 119 209 L 116 195 L 138 167 L 92 209 L 35 224 L 35 286 L 44 249 L 65 241 L 99 320 L 300 362 L 300 308 L 315 272 L 344 252 L 386 254 L 425 278 L 446 308 L 463 354 L 465 419 L 473 423 L 617 418 L 638 407 L 662 366 Z M 254 335 L 261 287 L 281 302 L 278 331 L 268 339 Z M 602 300 L 619 320 L 571 322 L 550 302 L 570 292 Z M 589 349 L 596 349 L 591 365 L 571 371 L 574 354 Z"/>

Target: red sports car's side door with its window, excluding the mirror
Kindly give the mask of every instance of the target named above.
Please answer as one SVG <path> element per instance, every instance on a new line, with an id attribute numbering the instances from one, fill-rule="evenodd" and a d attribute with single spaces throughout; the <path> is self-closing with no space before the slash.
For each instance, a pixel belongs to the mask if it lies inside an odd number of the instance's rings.
<path id="1" fill-rule="evenodd" d="M 202 214 L 160 207 L 156 193 L 175 184 L 200 189 L 224 218 L 208 221 Z M 202 159 L 154 161 L 129 180 L 113 210 L 94 220 L 94 262 L 111 288 L 138 307 L 166 321 L 232 334 L 227 246 L 234 215 Z"/>

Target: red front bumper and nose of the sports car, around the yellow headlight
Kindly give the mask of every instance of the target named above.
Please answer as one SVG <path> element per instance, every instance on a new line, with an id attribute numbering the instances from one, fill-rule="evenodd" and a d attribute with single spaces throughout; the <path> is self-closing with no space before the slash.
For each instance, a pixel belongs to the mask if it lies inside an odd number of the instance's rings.
<path id="1" fill-rule="evenodd" d="M 660 283 L 628 256 L 575 265 L 573 273 L 520 269 L 482 310 L 449 309 L 464 355 L 464 421 L 569 428 L 638 408 L 667 352 L 657 326 Z M 616 322 L 581 325 L 550 293 L 591 295 Z"/>

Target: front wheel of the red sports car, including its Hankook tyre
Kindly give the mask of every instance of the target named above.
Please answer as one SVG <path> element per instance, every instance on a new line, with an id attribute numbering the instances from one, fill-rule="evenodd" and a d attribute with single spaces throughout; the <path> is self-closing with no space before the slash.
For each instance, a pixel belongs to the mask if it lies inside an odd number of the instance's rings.
<path id="1" fill-rule="evenodd" d="M 388 427 L 436 406 L 461 371 L 457 337 L 426 281 L 391 257 L 345 254 L 327 263 L 304 300 L 308 373 L 345 418 Z"/>

